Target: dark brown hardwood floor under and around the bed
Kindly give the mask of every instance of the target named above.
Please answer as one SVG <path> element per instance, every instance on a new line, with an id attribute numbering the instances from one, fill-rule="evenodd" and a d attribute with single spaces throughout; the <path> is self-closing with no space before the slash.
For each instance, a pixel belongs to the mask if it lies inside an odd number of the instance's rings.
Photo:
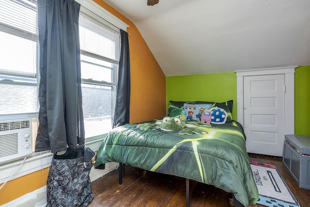
<path id="1" fill-rule="evenodd" d="M 249 154 L 250 160 L 272 164 L 293 192 L 301 207 L 310 206 L 310 190 L 299 188 L 280 157 Z M 94 199 L 89 207 L 182 207 L 186 206 L 186 179 L 124 166 L 123 184 L 118 170 L 92 182 Z M 190 207 L 230 207 L 229 193 L 190 180 Z M 257 205 L 257 207 L 263 207 Z"/>

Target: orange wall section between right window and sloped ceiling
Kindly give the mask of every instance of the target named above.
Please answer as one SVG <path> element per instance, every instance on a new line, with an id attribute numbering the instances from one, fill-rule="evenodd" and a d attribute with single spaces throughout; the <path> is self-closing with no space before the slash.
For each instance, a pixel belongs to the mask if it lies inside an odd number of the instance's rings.
<path id="1" fill-rule="evenodd" d="M 166 77 L 151 50 L 130 20 L 104 1 L 93 1 L 129 25 L 130 123 L 162 118 L 166 114 Z"/>

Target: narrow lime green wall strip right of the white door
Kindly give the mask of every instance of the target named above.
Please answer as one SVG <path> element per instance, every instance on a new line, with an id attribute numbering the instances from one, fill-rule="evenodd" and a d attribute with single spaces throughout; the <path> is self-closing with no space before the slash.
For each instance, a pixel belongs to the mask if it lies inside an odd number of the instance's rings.
<path id="1" fill-rule="evenodd" d="M 310 136 L 310 65 L 295 69 L 295 134 Z"/>

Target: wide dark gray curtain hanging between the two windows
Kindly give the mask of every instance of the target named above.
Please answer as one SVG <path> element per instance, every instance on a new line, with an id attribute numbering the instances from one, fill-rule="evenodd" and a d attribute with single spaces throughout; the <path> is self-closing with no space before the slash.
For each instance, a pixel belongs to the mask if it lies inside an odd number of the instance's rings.
<path id="1" fill-rule="evenodd" d="M 38 0 L 40 110 L 36 152 L 59 152 L 85 141 L 79 9 L 74 0 Z"/>

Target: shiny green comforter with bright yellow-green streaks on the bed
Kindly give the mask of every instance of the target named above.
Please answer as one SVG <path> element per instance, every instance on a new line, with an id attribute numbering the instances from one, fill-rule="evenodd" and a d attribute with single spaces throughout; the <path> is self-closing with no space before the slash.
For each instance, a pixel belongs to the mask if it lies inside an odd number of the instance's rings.
<path id="1" fill-rule="evenodd" d="M 114 161 L 149 171 L 214 185 L 248 207 L 259 194 L 246 151 L 242 126 L 235 121 L 199 127 L 207 134 L 140 130 L 137 124 L 112 129 L 101 144 L 95 167 Z"/>

